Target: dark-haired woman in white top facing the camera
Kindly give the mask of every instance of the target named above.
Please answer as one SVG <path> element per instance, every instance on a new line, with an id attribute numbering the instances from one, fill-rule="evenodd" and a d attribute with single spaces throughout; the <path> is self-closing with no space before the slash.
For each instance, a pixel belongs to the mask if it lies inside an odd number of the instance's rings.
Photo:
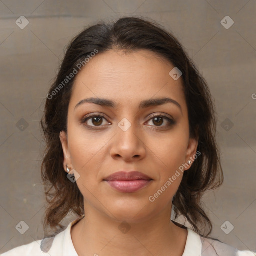
<path id="1" fill-rule="evenodd" d="M 208 237 L 200 198 L 223 182 L 214 104 L 157 24 L 126 17 L 76 36 L 41 125 L 44 228 L 55 233 L 4 256 L 255 255 Z M 170 221 L 171 209 L 191 229 Z M 64 230 L 69 211 L 77 219 Z"/>

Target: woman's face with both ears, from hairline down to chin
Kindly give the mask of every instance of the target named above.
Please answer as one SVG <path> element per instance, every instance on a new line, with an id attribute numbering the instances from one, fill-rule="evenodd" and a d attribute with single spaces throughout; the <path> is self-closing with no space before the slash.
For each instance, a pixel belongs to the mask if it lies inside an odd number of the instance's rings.
<path id="1" fill-rule="evenodd" d="M 147 50 L 109 50 L 98 53 L 76 75 L 67 136 L 62 131 L 60 140 L 64 168 L 68 164 L 75 170 L 85 212 L 90 208 L 136 222 L 171 206 L 183 176 L 179 167 L 197 148 L 197 140 L 189 138 L 182 80 L 169 75 L 173 68 Z M 94 103 L 85 102 L 89 98 Z M 136 175 L 140 180 L 106 180 L 119 171 L 138 171 L 149 181 Z"/>

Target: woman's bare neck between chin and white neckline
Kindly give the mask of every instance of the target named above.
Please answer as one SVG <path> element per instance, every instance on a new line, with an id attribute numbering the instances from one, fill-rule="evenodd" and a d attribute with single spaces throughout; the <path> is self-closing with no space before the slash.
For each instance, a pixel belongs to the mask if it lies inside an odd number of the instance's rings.
<path id="1" fill-rule="evenodd" d="M 182 255 L 187 230 L 170 221 L 171 205 L 143 221 L 118 221 L 85 207 L 85 217 L 71 228 L 79 256 Z"/>

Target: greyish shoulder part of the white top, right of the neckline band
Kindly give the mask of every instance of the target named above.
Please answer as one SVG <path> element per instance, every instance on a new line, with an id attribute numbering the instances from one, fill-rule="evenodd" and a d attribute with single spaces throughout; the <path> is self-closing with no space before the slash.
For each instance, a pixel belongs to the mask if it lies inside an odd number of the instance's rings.
<path id="1" fill-rule="evenodd" d="M 202 256 L 256 256 L 249 250 L 238 250 L 237 248 L 221 242 L 218 239 L 199 235 L 202 244 Z"/>

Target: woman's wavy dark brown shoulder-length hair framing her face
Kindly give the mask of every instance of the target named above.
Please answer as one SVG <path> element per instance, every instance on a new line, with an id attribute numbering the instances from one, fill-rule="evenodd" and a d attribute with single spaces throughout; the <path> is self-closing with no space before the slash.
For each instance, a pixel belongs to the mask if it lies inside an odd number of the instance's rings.
<path id="1" fill-rule="evenodd" d="M 41 165 L 47 200 L 44 231 L 48 226 L 62 229 L 60 222 L 69 211 L 78 216 L 84 214 L 83 196 L 76 182 L 70 182 L 63 169 L 64 158 L 59 133 L 62 130 L 67 132 L 67 110 L 75 78 L 67 82 L 66 76 L 74 68 L 77 69 L 77 65 L 95 49 L 98 50 L 97 54 L 110 49 L 147 49 L 181 70 L 190 137 L 198 138 L 197 151 L 201 155 L 184 172 L 173 197 L 173 210 L 175 219 L 183 215 L 195 232 L 203 234 L 203 229 L 209 228 L 209 234 L 212 224 L 203 210 L 201 197 L 207 189 L 214 189 L 223 182 L 219 150 L 215 141 L 215 109 L 209 88 L 181 44 L 170 32 L 153 21 L 135 17 L 123 17 L 109 23 L 100 21 L 73 38 L 66 50 L 47 95 L 44 116 L 40 122 L 46 139 Z M 66 84 L 63 85 L 64 80 Z M 63 86 L 59 86 L 61 83 Z"/>

